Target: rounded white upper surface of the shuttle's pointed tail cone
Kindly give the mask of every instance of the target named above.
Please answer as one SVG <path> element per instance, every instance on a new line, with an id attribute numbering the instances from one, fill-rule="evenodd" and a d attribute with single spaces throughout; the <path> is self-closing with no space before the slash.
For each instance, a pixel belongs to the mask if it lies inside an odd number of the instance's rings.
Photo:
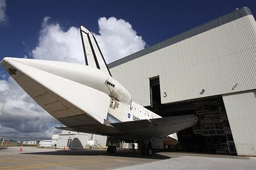
<path id="1" fill-rule="evenodd" d="M 70 62 L 60 62 L 52 60 L 37 60 L 37 59 L 22 59 L 5 57 L 1 65 L 8 71 L 8 73 L 15 79 L 18 73 L 25 73 L 28 71 L 40 71 L 38 73 L 50 73 L 68 80 L 81 83 L 93 89 L 100 90 L 109 94 L 109 89 L 104 85 L 108 80 L 108 75 L 104 72 L 90 66 L 82 64 L 74 64 Z M 37 76 L 40 76 L 38 74 Z"/>

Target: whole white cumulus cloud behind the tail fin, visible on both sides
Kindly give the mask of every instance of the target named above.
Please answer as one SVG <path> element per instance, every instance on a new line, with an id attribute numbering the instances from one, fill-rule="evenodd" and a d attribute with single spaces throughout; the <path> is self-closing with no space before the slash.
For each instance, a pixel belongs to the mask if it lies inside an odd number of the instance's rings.
<path id="1" fill-rule="evenodd" d="M 84 64 L 83 47 L 79 28 L 63 31 L 60 24 L 50 24 L 45 17 L 38 46 L 31 54 L 35 59 L 59 60 Z M 113 62 L 145 48 L 145 41 L 137 36 L 129 22 L 122 19 L 99 18 L 99 34 L 94 34 L 106 62 Z"/>

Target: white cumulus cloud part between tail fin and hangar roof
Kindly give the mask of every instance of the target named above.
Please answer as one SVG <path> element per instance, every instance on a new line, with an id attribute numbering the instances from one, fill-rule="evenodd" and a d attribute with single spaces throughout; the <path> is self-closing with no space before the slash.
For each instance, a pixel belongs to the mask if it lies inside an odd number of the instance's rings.
<path id="1" fill-rule="evenodd" d="M 102 17 L 98 20 L 99 35 L 95 34 L 106 62 L 113 62 L 145 48 L 146 43 L 132 25 L 123 19 Z"/>

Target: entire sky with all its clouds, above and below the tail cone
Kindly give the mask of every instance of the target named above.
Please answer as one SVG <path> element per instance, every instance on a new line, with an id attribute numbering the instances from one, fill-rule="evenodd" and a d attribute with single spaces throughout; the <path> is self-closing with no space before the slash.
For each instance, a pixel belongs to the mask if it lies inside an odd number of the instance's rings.
<path id="1" fill-rule="evenodd" d="M 4 11 L 1 20 L 0 10 L 0 60 L 26 56 L 83 64 L 77 34 L 83 24 L 95 33 L 111 62 L 243 6 L 256 15 L 256 1 L 247 0 L 0 0 Z M 0 117 L 0 136 L 42 137 L 56 132 L 53 127 L 60 124 L 4 74 L 0 67 L 0 100 L 6 101 Z"/>

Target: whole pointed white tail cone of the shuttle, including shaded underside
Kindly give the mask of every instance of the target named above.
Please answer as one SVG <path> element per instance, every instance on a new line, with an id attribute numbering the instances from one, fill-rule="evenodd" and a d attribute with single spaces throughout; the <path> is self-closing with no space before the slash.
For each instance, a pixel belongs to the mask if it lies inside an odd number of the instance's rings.
<path id="1" fill-rule="evenodd" d="M 88 124 L 104 123 L 110 97 L 102 92 L 104 89 L 92 88 L 100 83 L 104 85 L 106 80 L 97 69 L 81 64 L 11 57 L 5 57 L 1 65 L 36 103 L 60 122 L 65 123 L 67 117 L 81 116 Z M 89 80 L 90 76 L 95 80 L 92 87 L 84 81 L 84 77 Z"/>

